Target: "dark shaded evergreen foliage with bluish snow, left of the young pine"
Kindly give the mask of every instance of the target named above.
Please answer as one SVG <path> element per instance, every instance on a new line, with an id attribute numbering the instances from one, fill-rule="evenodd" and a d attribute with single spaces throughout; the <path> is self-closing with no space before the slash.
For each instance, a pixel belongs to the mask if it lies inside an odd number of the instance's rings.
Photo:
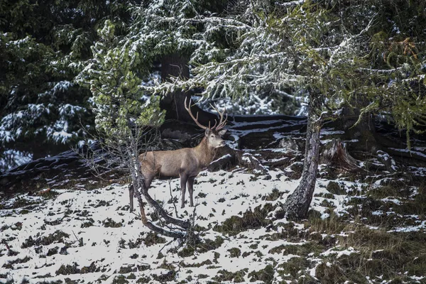
<path id="1" fill-rule="evenodd" d="M 76 143 L 92 99 L 75 84 L 100 20 L 124 31 L 130 1 L 0 1 L 0 148 Z"/>

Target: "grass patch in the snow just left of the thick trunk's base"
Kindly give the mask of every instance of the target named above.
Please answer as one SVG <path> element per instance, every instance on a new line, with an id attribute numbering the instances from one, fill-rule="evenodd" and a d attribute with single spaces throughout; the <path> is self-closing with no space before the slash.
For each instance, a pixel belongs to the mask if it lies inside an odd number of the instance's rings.
<path id="1" fill-rule="evenodd" d="M 258 229 L 263 226 L 268 226 L 271 224 L 271 220 L 266 219 L 269 212 L 272 212 L 276 206 L 272 204 L 265 204 L 263 207 L 259 205 L 253 211 L 249 210 L 244 212 L 243 217 L 232 216 L 229 219 L 226 219 L 222 225 L 214 226 L 214 231 L 219 231 L 224 234 L 229 234 L 230 236 L 235 236 L 241 231 L 246 231 L 247 229 Z"/>

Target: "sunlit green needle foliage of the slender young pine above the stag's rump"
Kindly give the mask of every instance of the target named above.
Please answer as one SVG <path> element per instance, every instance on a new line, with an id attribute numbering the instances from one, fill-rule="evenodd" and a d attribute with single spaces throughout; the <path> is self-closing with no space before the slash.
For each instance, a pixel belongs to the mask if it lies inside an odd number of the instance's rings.
<path id="1" fill-rule="evenodd" d="M 105 21 L 99 41 L 92 47 L 93 60 L 77 77 L 87 85 L 94 99 L 95 126 L 114 145 L 132 136 L 132 127 L 160 126 L 164 114 L 158 96 L 144 97 L 137 70 L 141 56 L 114 34 L 115 26 Z M 118 140 L 118 141 L 117 141 Z"/>

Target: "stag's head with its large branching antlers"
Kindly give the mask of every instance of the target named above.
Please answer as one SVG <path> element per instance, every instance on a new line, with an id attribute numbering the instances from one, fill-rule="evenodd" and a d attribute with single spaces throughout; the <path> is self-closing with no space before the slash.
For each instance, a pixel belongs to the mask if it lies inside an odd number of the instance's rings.
<path id="1" fill-rule="evenodd" d="M 226 129 L 223 129 L 223 128 L 226 124 L 226 119 L 228 119 L 228 114 L 226 114 L 226 117 L 224 119 L 224 114 L 226 109 L 220 112 L 216 107 L 213 107 L 213 108 L 214 110 L 217 111 L 217 114 L 219 114 L 219 124 L 217 123 L 217 120 L 215 119 L 214 126 L 210 126 L 210 122 L 208 127 L 203 126 L 198 121 L 198 112 L 196 117 L 194 117 L 194 115 L 191 112 L 191 100 L 190 100 L 190 104 L 188 104 L 188 107 L 187 107 L 186 98 L 185 98 L 185 109 L 188 111 L 188 113 L 194 120 L 195 124 L 197 124 L 197 126 L 199 126 L 201 129 L 204 129 L 204 139 L 206 139 L 208 146 L 211 148 L 219 148 L 219 147 L 225 146 L 225 142 L 222 139 L 222 136 L 224 136 L 224 134 L 226 133 Z"/>

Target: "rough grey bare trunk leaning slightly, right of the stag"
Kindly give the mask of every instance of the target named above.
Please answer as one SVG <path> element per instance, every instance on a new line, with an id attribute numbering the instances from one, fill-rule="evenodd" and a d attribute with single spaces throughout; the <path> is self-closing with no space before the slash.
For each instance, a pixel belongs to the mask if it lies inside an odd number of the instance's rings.
<path id="1" fill-rule="evenodd" d="M 320 121 L 317 111 L 320 109 L 320 98 L 310 95 L 309 113 L 307 118 L 305 161 L 303 163 L 302 178 L 295 191 L 285 200 L 283 209 L 288 219 L 303 219 L 312 201 L 317 180 L 318 159 L 320 152 Z"/>

